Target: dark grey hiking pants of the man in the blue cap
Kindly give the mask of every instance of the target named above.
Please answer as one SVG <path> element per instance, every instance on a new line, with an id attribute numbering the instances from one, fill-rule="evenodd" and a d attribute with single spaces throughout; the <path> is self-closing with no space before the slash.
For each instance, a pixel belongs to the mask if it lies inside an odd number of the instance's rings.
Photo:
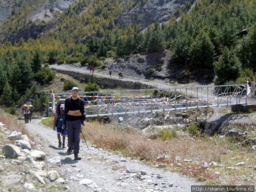
<path id="1" fill-rule="evenodd" d="M 68 147 L 74 148 L 74 154 L 79 153 L 81 125 L 82 123 L 80 119 L 75 121 L 66 121 Z"/>

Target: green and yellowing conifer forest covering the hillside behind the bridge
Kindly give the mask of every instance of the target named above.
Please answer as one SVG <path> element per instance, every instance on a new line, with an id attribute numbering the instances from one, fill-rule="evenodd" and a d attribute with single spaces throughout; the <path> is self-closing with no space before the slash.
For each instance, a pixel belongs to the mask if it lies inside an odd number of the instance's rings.
<path id="1" fill-rule="evenodd" d="M 16 0 L 15 11 L 1 26 L 0 39 L 41 26 L 48 30 L 35 39 L 20 38 L 13 44 L 7 40 L 1 43 L 2 105 L 21 105 L 26 99 L 35 97 L 34 90 L 40 90 L 40 86 L 53 80 L 54 74 L 48 68 L 48 64 L 53 63 L 81 62 L 97 67 L 100 65 L 97 60 L 107 57 L 170 49 L 170 65 L 214 69 L 218 77 L 215 84 L 245 83 L 256 71 L 254 0 L 199 0 L 187 13 L 188 2 L 177 7 L 178 22 L 171 16 L 169 23 L 153 23 L 144 33 L 136 23 L 127 28 L 114 25 L 114 18 L 145 0 L 95 0 L 90 5 L 89 0 L 80 0 L 62 13 L 55 12 L 57 20 L 42 22 L 39 26 L 24 18 L 42 1 L 22 2 Z M 248 34 L 236 35 L 244 29 L 248 29 Z M 12 97 L 7 102 L 10 94 Z"/>

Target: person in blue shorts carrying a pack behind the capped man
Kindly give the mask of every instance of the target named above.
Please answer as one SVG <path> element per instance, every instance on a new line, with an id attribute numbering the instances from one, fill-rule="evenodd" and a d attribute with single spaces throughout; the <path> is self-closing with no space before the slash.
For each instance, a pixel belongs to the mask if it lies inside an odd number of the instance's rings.
<path id="1" fill-rule="evenodd" d="M 65 148 L 65 140 L 67 137 L 67 129 L 64 125 L 65 120 L 65 107 L 64 107 L 65 99 L 59 99 L 56 105 L 56 113 L 53 119 L 53 130 L 56 130 L 57 127 L 57 138 L 59 140 L 59 148 L 61 148 L 61 138 L 62 136 L 62 147 Z"/>

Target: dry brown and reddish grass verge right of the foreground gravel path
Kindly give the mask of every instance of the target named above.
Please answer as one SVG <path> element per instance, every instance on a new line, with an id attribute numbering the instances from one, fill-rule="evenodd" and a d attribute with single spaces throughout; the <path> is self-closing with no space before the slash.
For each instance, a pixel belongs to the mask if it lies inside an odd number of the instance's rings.
<path id="1" fill-rule="evenodd" d="M 159 138 L 147 139 L 135 129 L 116 129 L 114 125 L 113 127 L 91 122 L 86 123 L 83 132 L 98 147 L 121 151 L 133 158 L 139 157 L 146 160 L 147 164 L 157 164 L 166 170 L 181 172 L 204 182 L 204 184 L 249 185 L 256 181 L 255 174 L 252 173 L 255 166 L 255 154 L 246 148 L 242 149 L 226 138 L 178 136 L 178 138 L 167 140 L 167 143 Z M 226 151 L 229 153 L 225 154 Z M 161 155 L 165 155 L 165 159 L 155 161 Z M 192 159 L 193 162 L 176 161 L 175 157 L 177 156 L 182 160 Z M 237 158 L 231 159 L 233 157 Z M 218 166 L 210 166 L 212 161 L 216 162 Z M 237 167 L 236 163 L 238 162 L 246 164 Z M 205 168 L 204 163 L 208 163 L 208 167 L 211 169 Z M 227 167 L 238 169 L 229 170 Z"/>

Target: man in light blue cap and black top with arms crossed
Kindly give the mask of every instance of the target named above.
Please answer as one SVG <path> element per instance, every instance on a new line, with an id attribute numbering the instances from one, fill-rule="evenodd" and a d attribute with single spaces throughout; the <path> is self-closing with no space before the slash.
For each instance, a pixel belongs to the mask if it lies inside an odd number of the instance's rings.
<path id="1" fill-rule="evenodd" d="M 74 157 L 76 160 L 80 160 L 81 157 L 78 157 L 78 154 L 84 114 L 84 100 L 78 97 L 79 89 L 77 87 L 72 88 L 71 94 L 71 97 L 65 99 L 65 127 L 68 133 L 67 155 L 70 155 L 72 148 L 74 148 Z"/>

